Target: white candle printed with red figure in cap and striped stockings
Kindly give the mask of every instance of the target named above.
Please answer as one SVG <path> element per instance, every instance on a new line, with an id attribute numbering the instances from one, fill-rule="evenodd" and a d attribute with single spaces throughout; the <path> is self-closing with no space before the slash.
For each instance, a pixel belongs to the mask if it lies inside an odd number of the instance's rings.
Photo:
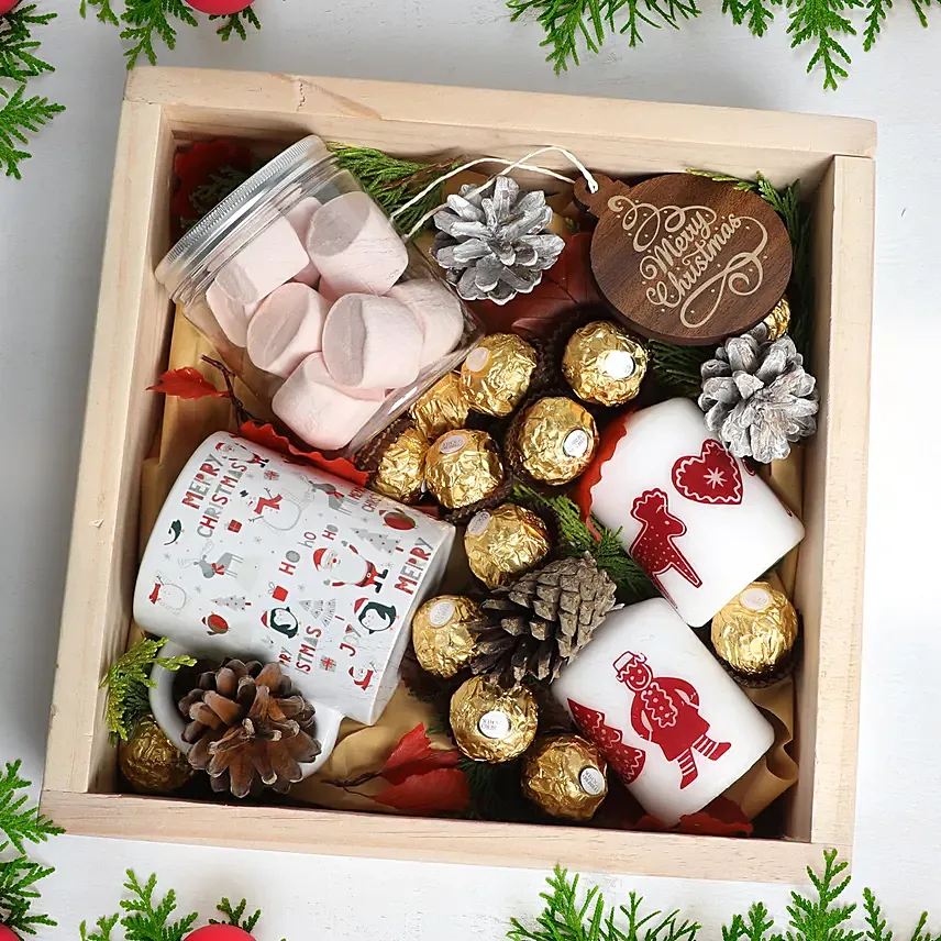
<path id="1" fill-rule="evenodd" d="M 667 827 L 774 743 L 771 723 L 662 598 L 610 613 L 552 693 Z"/>

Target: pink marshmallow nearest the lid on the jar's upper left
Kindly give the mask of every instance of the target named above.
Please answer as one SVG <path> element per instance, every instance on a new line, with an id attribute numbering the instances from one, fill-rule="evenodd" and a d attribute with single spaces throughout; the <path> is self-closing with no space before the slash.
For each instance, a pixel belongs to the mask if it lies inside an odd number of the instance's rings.
<path id="1" fill-rule="evenodd" d="M 234 300 L 255 303 L 309 264 L 300 239 L 280 215 L 224 265 L 215 280 Z"/>

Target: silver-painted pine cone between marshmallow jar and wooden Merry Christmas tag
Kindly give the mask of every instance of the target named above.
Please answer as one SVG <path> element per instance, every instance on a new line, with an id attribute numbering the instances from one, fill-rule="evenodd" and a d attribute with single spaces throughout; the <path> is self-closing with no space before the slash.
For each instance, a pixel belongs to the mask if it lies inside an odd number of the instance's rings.
<path id="1" fill-rule="evenodd" d="M 441 231 L 431 254 L 464 300 L 506 303 L 542 280 L 565 242 L 546 229 L 552 209 L 542 190 L 520 196 L 506 176 L 470 195 L 474 189 L 462 186 L 460 196 L 447 197 L 447 209 L 435 212 Z"/>

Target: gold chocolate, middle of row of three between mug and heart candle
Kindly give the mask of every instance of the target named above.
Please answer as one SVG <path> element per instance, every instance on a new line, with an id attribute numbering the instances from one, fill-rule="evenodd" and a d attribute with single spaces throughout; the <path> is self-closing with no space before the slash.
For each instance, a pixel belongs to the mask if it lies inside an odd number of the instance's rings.
<path id="1" fill-rule="evenodd" d="M 503 483 L 503 464 L 485 431 L 458 429 L 442 434 L 424 458 L 424 481 L 449 509 L 476 503 Z"/>

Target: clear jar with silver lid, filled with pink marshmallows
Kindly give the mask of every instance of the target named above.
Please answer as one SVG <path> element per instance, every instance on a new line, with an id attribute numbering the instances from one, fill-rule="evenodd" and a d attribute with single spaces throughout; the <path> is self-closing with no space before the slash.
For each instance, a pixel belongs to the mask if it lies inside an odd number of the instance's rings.
<path id="1" fill-rule="evenodd" d="M 362 447 L 481 335 L 317 136 L 193 225 L 156 275 L 248 388 L 328 453 Z"/>

